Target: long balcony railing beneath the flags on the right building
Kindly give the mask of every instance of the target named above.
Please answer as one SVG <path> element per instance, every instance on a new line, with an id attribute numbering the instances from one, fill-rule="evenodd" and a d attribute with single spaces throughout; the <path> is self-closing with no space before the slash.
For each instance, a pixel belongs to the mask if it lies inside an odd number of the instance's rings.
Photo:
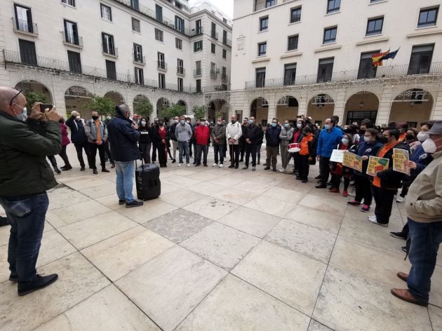
<path id="1" fill-rule="evenodd" d="M 296 76 L 290 82 L 279 79 L 266 79 L 263 88 L 275 88 L 282 86 L 307 85 L 316 83 L 335 83 L 340 81 L 356 81 L 360 79 L 383 79 L 391 77 L 403 77 L 426 74 L 442 74 L 442 62 L 433 62 L 430 66 L 410 66 L 410 65 L 391 65 L 388 67 L 377 67 L 377 70 L 361 71 L 346 70 L 342 72 L 333 72 L 331 76 L 321 76 L 318 74 Z M 246 88 L 256 88 L 256 81 L 246 81 Z"/>

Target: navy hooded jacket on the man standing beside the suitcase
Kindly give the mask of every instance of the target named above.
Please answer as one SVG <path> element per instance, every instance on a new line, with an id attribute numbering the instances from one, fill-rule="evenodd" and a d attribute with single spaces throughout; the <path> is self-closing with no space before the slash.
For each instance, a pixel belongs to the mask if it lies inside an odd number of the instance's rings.
<path id="1" fill-rule="evenodd" d="M 141 157 L 137 147 L 140 132 L 133 128 L 132 121 L 126 119 L 119 106 L 116 106 L 115 109 L 116 115 L 107 125 L 112 158 L 119 162 L 137 160 Z"/>

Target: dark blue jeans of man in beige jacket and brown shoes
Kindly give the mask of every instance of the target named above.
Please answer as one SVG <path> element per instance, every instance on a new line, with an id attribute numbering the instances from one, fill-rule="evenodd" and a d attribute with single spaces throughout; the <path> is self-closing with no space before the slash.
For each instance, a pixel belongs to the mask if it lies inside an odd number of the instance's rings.
<path id="1" fill-rule="evenodd" d="M 436 266 L 439 243 L 442 242 L 442 222 L 420 223 L 408 218 L 408 227 L 411 238 L 408 290 L 416 299 L 428 302 L 431 275 Z"/>

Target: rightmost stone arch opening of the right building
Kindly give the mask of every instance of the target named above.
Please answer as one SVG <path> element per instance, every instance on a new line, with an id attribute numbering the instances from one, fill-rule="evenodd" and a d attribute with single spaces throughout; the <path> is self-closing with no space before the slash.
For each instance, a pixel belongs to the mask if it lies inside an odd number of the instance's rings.
<path id="1" fill-rule="evenodd" d="M 428 90 L 411 88 L 396 95 L 391 102 L 389 122 L 406 121 L 411 126 L 420 127 L 420 123 L 429 121 L 433 109 L 434 97 Z"/>

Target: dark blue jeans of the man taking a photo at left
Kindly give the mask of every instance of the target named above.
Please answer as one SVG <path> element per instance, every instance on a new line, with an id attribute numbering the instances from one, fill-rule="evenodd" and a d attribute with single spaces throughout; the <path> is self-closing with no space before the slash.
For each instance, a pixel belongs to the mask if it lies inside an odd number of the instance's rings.
<path id="1" fill-rule="evenodd" d="M 15 198 L 0 198 L 11 224 L 8 245 L 8 263 L 12 276 L 26 285 L 34 281 L 36 262 L 39 257 L 44 219 L 49 199 L 45 193 Z"/>

